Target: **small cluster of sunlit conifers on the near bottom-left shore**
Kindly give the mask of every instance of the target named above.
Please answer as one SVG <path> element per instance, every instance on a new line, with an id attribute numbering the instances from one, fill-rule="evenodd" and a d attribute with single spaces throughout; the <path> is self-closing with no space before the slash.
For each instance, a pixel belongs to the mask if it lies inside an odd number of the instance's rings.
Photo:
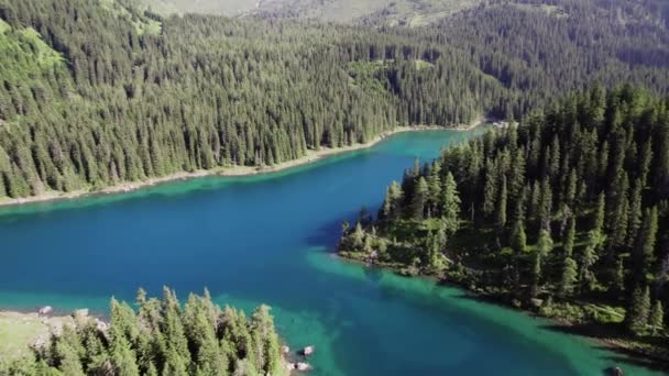
<path id="1" fill-rule="evenodd" d="M 267 306 L 251 318 L 190 295 L 182 307 L 174 291 L 138 294 L 139 311 L 111 300 L 110 324 L 76 316 L 34 357 L 17 361 L 10 375 L 284 375 L 274 319 Z M 2 369 L 0 369 L 2 373 Z"/>

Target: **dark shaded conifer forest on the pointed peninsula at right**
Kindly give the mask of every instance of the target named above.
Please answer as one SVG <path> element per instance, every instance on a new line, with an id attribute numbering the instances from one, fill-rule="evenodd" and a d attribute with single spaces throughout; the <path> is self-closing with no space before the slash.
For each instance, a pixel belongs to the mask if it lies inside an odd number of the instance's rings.
<path id="1" fill-rule="evenodd" d="M 339 250 L 657 340 L 668 225 L 669 98 L 595 87 L 416 163 Z"/>

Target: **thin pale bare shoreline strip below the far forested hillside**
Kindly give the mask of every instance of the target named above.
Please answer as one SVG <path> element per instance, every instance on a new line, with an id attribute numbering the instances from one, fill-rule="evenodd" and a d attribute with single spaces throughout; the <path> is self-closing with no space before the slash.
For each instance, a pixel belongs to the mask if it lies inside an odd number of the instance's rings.
<path id="1" fill-rule="evenodd" d="M 475 128 L 487 123 L 490 119 L 478 118 L 471 124 L 467 124 L 465 126 L 459 125 L 456 128 L 445 128 L 440 125 L 410 125 L 410 126 L 397 126 L 393 130 L 384 131 L 372 140 L 364 144 L 353 144 L 343 147 L 321 147 L 318 151 L 308 150 L 306 155 L 292 161 L 285 161 L 272 166 L 230 166 L 230 167 L 215 167 L 212 169 L 202 169 L 196 172 L 179 172 L 169 174 L 163 177 L 149 178 L 141 181 L 127 181 L 120 183 L 113 186 L 108 186 L 98 190 L 94 189 L 79 189 L 70 192 L 58 192 L 58 191 L 48 191 L 39 196 L 31 196 L 24 198 L 15 198 L 15 199 L 0 199 L 0 208 L 4 207 L 13 207 L 13 206 L 22 206 L 28 203 L 37 203 L 37 202 L 50 202 L 56 200 L 68 200 L 83 198 L 87 196 L 94 195 L 113 195 L 113 193 L 124 193 L 134 190 L 139 190 L 142 188 L 149 188 L 156 185 L 161 185 L 164 183 L 177 181 L 177 180 L 189 180 L 195 178 L 201 178 L 207 176 L 227 176 L 227 177 L 242 177 L 242 176 L 253 176 L 253 175 L 262 175 L 270 173 L 277 173 L 286 169 L 290 169 L 298 166 L 308 165 L 311 163 L 316 163 L 328 157 L 362 151 L 370 147 L 373 147 L 385 141 L 387 137 L 405 132 L 418 132 L 418 131 L 457 131 L 457 132 L 467 132 L 472 131 Z"/>

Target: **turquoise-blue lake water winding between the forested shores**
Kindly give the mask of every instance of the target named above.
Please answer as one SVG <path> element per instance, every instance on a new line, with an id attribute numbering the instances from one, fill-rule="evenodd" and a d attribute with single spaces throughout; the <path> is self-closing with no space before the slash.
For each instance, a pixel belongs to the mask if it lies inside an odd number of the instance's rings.
<path id="1" fill-rule="evenodd" d="M 376 208 L 415 156 L 464 132 L 397 134 L 361 152 L 251 177 L 0 209 L 0 307 L 105 312 L 136 288 L 266 302 L 314 375 L 650 374 L 586 340 L 461 290 L 341 262 L 340 223 Z"/>

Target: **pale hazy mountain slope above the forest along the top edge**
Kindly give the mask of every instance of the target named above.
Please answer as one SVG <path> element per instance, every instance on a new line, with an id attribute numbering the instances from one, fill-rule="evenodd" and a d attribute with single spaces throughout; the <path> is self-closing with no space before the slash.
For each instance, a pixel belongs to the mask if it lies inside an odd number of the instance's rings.
<path id="1" fill-rule="evenodd" d="M 647 23 L 667 27 L 669 3 L 662 0 L 138 0 L 161 14 L 201 13 L 227 16 L 249 14 L 262 18 L 298 18 L 375 25 L 421 26 L 462 10 L 490 5 L 515 7 L 568 15 L 564 8 L 595 7 L 618 14 L 621 22 L 629 14 Z"/>

